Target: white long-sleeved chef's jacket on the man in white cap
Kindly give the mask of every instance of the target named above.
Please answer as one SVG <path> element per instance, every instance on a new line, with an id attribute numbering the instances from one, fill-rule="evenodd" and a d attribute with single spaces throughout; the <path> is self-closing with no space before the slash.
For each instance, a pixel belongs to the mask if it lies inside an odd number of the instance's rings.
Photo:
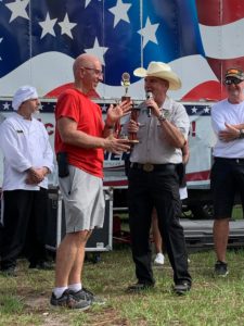
<path id="1" fill-rule="evenodd" d="M 0 125 L 0 148 L 4 155 L 3 190 L 48 188 L 46 177 L 39 185 L 26 185 L 29 167 L 53 171 L 53 152 L 43 124 L 13 113 Z"/>

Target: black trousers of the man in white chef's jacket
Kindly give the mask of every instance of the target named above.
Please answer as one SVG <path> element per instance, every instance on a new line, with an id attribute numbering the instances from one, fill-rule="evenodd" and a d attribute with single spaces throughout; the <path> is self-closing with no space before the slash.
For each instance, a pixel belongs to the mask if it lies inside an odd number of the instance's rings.
<path id="1" fill-rule="evenodd" d="M 3 228 L 1 234 L 1 269 L 15 267 L 25 250 L 30 263 L 46 256 L 48 190 L 3 191 Z"/>

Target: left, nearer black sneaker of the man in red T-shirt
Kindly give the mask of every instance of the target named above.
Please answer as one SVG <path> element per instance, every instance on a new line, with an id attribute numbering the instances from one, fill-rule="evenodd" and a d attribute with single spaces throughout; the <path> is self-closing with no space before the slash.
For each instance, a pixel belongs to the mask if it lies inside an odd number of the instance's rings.
<path id="1" fill-rule="evenodd" d="M 59 299 L 52 293 L 50 303 L 55 306 L 65 306 L 69 309 L 79 309 L 81 311 L 85 311 L 90 308 L 91 303 L 78 299 L 72 291 L 65 290 Z"/>

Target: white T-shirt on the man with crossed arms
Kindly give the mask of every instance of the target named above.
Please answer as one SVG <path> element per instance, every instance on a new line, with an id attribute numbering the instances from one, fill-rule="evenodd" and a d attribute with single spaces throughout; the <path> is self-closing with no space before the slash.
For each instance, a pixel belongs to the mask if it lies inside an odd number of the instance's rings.
<path id="1" fill-rule="evenodd" d="M 228 142 L 218 139 L 218 133 L 227 128 L 224 123 L 231 125 L 244 123 L 244 101 L 239 104 L 231 104 L 226 99 L 214 104 L 211 108 L 211 125 L 217 136 L 217 142 L 214 148 L 214 156 L 243 159 L 244 139 L 236 139 Z"/>

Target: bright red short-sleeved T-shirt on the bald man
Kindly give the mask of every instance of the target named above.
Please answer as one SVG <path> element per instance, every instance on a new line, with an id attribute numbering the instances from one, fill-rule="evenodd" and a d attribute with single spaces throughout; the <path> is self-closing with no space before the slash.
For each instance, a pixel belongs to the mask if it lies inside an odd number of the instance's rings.
<path id="1" fill-rule="evenodd" d="M 62 116 L 77 123 L 77 129 L 90 136 L 102 137 L 101 108 L 77 89 L 67 89 L 57 99 L 55 121 Z M 68 163 L 98 177 L 103 177 L 104 152 L 101 148 L 86 149 L 64 143 L 55 128 L 55 152 L 66 152 Z"/>

